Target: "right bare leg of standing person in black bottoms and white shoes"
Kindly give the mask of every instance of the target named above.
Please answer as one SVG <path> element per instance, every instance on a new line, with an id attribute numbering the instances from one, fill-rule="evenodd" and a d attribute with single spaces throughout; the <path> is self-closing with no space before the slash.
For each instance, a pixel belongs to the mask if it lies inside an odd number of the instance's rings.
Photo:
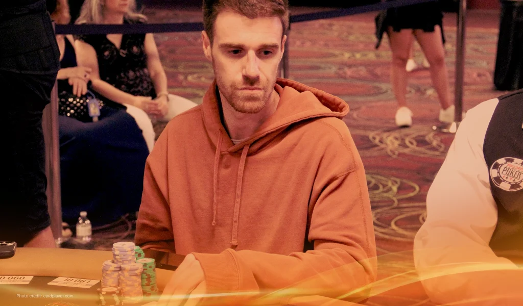
<path id="1" fill-rule="evenodd" d="M 429 71 L 432 83 L 438 93 L 442 109 L 449 108 L 450 102 L 449 77 L 445 66 L 445 49 L 441 40 L 441 29 L 434 27 L 434 32 L 415 30 L 414 36 L 422 47 L 423 53 L 430 64 Z"/>

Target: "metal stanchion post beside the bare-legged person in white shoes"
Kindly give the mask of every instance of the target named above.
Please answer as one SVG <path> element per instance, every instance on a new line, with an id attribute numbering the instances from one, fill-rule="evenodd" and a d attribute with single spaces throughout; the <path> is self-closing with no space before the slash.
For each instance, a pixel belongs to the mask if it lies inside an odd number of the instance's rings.
<path id="1" fill-rule="evenodd" d="M 460 0 L 458 30 L 456 35 L 456 83 L 454 88 L 454 122 L 441 127 L 441 132 L 456 133 L 461 123 L 463 112 L 463 79 L 465 71 L 465 23 L 467 21 L 467 0 Z M 435 127 L 434 127 L 435 128 Z M 436 128 L 435 128 L 436 129 Z"/>

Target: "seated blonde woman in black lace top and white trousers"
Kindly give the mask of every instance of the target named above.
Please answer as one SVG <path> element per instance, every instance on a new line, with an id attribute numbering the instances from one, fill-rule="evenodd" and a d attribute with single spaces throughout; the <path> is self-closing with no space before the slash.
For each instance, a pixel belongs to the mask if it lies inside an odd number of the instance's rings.
<path id="1" fill-rule="evenodd" d="M 76 24 L 132 24 L 146 17 L 135 13 L 134 0 L 86 0 Z M 104 97 L 144 110 L 153 119 L 170 120 L 197 104 L 167 91 L 167 76 L 160 62 L 153 35 L 101 34 L 79 36 L 78 62 L 92 68 L 93 88 Z M 143 118 L 135 117 L 139 126 Z M 150 119 L 147 119 L 150 122 Z M 145 123 L 144 123 L 145 124 Z M 154 143 L 154 135 L 144 137 Z"/>

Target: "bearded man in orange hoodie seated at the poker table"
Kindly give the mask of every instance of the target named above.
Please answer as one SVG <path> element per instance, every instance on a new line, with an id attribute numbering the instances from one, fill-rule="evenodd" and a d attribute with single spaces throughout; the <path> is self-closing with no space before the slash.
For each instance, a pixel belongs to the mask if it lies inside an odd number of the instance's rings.
<path id="1" fill-rule="evenodd" d="M 285 304 L 367 290 L 376 242 L 365 170 L 341 120 L 348 105 L 277 78 L 288 1 L 203 6 L 215 81 L 147 159 L 135 236 L 143 249 L 187 255 L 163 298 Z"/>

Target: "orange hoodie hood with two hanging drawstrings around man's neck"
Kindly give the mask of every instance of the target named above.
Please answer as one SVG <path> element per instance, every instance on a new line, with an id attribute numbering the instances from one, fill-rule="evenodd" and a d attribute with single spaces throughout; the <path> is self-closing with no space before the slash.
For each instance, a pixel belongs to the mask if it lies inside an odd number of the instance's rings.
<path id="1" fill-rule="evenodd" d="M 220 120 L 220 109 L 217 97 L 217 87 L 214 81 L 203 97 L 202 117 L 207 135 L 214 144 L 216 151 L 213 167 L 213 219 L 216 225 L 218 171 L 221 156 L 225 153 L 234 154 L 241 151 L 240 166 L 236 178 L 236 194 L 233 213 L 233 229 L 231 245 L 238 245 L 238 217 L 242 197 L 242 182 L 247 156 L 263 148 L 288 126 L 319 117 L 338 117 L 342 119 L 349 112 L 345 101 L 328 93 L 305 86 L 295 81 L 278 78 L 275 90 L 280 96 L 276 111 L 265 121 L 256 133 L 242 143 L 234 145 Z"/>

